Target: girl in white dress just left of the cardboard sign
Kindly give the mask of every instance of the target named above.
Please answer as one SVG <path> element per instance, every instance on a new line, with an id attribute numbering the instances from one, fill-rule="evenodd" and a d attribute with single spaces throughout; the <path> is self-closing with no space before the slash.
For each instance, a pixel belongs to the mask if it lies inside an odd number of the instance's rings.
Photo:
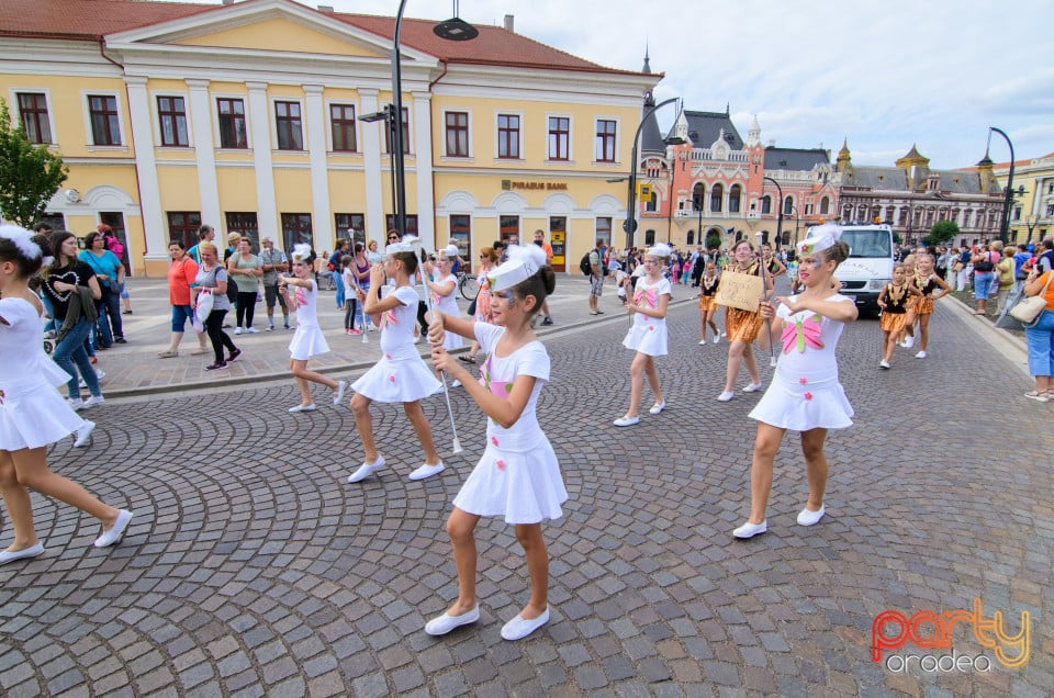
<path id="1" fill-rule="evenodd" d="M 633 316 L 633 324 L 623 346 L 637 353 L 629 367 L 629 409 L 615 420 L 616 427 L 630 427 L 640 421 L 640 394 L 644 389 L 646 375 L 655 395 L 655 404 L 648 412 L 658 415 L 666 406 L 654 357 L 666 356 L 666 306 L 671 289 L 662 269 L 670 261 L 671 254 L 670 247 L 662 244 L 644 254 L 644 275 L 637 279 L 633 300 L 626 304 L 626 311 Z"/>

